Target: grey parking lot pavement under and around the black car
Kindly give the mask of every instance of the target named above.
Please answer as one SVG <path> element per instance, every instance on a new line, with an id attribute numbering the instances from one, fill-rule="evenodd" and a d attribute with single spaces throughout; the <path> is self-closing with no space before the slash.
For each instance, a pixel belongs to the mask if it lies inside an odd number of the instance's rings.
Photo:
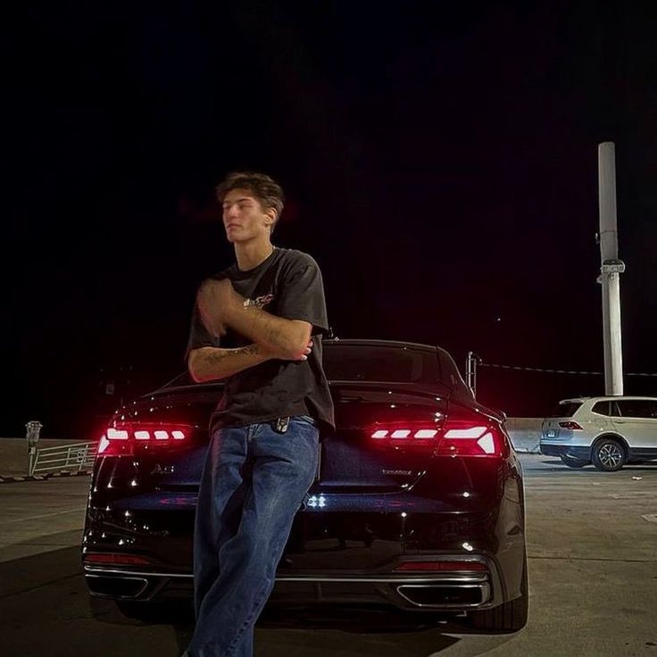
<path id="1" fill-rule="evenodd" d="M 514 635 L 377 607 L 267 608 L 257 657 L 655 655 L 657 464 L 603 474 L 521 456 L 528 509 L 530 618 Z M 79 563 L 89 479 L 0 487 L 0 654 L 178 657 L 186 609 L 130 620 L 90 599 Z"/>

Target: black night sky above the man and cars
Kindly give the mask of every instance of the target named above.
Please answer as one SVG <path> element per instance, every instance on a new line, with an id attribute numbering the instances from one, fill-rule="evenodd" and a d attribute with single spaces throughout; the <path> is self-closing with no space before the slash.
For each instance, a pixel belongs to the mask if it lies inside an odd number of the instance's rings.
<path id="1" fill-rule="evenodd" d="M 285 187 L 272 241 L 320 263 L 337 336 L 599 371 L 614 141 L 624 365 L 657 372 L 654 7 L 31 4 L 3 46 L 0 436 L 37 419 L 94 437 L 183 370 L 195 288 L 233 257 L 213 196 L 229 170 Z M 602 393 L 479 370 L 510 415 Z"/>

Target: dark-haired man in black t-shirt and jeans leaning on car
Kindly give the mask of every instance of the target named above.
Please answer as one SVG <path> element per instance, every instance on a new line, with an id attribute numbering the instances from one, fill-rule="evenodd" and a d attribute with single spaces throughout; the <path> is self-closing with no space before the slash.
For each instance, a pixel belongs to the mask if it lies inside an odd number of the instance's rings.
<path id="1" fill-rule="evenodd" d="M 199 288 L 187 346 L 192 377 L 226 387 L 196 505 L 196 625 L 186 654 L 251 657 L 255 620 L 315 478 L 320 429 L 334 426 L 321 366 L 328 322 L 317 263 L 271 244 L 279 185 L 238 172 L 217 195 L 237 262 Z"/>

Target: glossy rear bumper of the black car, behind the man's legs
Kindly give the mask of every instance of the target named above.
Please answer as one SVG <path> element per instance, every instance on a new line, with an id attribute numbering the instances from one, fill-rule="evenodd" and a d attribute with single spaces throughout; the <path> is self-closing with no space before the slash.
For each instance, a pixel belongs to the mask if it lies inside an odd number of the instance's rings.
<path id="1" fill-rule="evenodd" d="M 319 503 L 295 517 L 272 602 L 462 611 L 520 595 L 526 558 L 520 471 L 511 476 L 497 463 L 477 465 L 478 487 L 462 483 L 458 462 L 442 473 L 449 495 L 430 496 L 428 483 L 403 494 L 318 493 Z M 83 560 L 135 555 L 146 565 L 83 561 L 90 593 L 144 602 L 191 598 L 195 495 L 107 496 L 87 507 Z M 400 562 L 420 559 L 478 561 L 484 570 L 395 571 Z"/>

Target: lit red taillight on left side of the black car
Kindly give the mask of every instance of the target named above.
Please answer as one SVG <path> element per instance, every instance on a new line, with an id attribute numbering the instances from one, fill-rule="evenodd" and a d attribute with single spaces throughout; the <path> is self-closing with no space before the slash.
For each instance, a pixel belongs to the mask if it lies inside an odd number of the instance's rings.
<path id="1" fill-rule="evenodd" d="M 121 422 L 105 429 L 98 443 L 98 455 L 133 454 L 137 449 L 184 444 L 192 428 L 179 424 Z"/>

